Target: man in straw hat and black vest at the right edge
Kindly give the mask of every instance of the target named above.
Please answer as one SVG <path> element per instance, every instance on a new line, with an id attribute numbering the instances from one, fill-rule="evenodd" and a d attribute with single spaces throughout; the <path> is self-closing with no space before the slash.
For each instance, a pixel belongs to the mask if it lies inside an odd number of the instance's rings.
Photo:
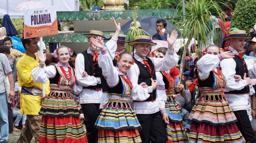
<path id="1" fill-rule="evenodd" d="M 246 39 L 249 38 L 249 36 L 246 36 L 246 31 L 244 30 L 236 29 L 229 32 L 229 36 L 225 37 L 224 40 L 230 41 L 228 50 L 234 52 L 235 57 L 222 60 L 220 62 L 220 68 L 227 80 L 227 85 L 224 89 L 225 97 L 228 99 L 229 105 L 238 120 L 236 125 L 247 143 L 256 143 L 254 131 L 246 111 L 249 97 L 249 85 L 251 84 L 249 74 L 254 74 L 252 73 L 253 69 L 247 68 L 245 60 L 240 54 L 240 51 L 243 50 L 245 46 Z M 241 80 L 235 81 L 234 75 L 240 75 Z"/>

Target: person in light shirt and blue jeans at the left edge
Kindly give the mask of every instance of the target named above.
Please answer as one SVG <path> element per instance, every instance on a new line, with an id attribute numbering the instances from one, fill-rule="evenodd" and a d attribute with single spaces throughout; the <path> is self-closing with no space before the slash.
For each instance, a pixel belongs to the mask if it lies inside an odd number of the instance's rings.
<path id="1" fill-rule="evenodd" d="M 5 48 L 6 49 L 7 46 L 0 46 L 0 50 Z M 8 47 L 7 47 L 8 48 Z M 9 49 L 9 48 L 8 48 Z M 4 51 L 4 50 L 2 50 Z M 10 50 L 9 50 L 10 51 Z M 0 123 L 1 123 L 1 138 L 0 138 L 0 142 L 1 143 L 7 143 L 7 139 L 9 136 L 9 127 L 8 127 L 8 108 L 7 108 L 7 96 L 10 98 L 10 100 L 13 99 L 15 93 L 14 93 L 14 80 L 13 80 L 13 75 L 12 75 L 12 70 L 11 70 L 11 66 L 8 62 L 7 57 L 0 53 Z M 3 73 L 3 71 L 5 73 Z M 6 95 L 5 93 L 5 85 L 4 85 L 4 74 L 7 74 L 7 78 L 9 80 L 10 83 L 10 91 L 9 94 Z"/>

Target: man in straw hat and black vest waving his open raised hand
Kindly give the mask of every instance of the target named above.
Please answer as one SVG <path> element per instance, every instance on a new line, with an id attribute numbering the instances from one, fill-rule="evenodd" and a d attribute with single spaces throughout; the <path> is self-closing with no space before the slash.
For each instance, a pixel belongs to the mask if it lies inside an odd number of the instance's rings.
<path id="1" fill-rule="evenodd" d="M 166 130 L 163 125 L 158 100 L 156 100 L 156 73 L 155 71 L 167 71 L 176 65 L 178 56 L 174 52 L 174 44 L 178 34 L 174 30 L 171 36 L 167 36 L 168 51 L 165 58 L 146 57 L 151 51 L 151 46 L 156 45 L 149 36 L 137 36 L 129 45 L 134 47 L 136 53 L 133 53 L 135 63 L 128 71 L 128 75 L 133 83 L 132 105 L 136 113 L 142 130 L 139 130 L 143 143 L 152 142 L 165 143 L 167 140 Z M 139 84 L 145 83 L 145 86 Z"/>

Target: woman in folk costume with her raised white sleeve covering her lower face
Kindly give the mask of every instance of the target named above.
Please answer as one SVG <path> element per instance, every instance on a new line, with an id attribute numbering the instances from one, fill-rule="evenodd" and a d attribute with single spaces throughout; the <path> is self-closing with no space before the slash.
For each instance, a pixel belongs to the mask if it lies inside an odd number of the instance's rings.
<path id="1" fill-rule="evenodd" d="M 220 54 L 219 47 L 211 45 L 203 50 L 202 55 L 197 62 L 197 101 L 189 114 L 189 143 L 245 143 L 235 124 L 236 116 L 224 96 L 226 80 L 218 67 L 220 61 L 234 57 L 234 53 Z"/>

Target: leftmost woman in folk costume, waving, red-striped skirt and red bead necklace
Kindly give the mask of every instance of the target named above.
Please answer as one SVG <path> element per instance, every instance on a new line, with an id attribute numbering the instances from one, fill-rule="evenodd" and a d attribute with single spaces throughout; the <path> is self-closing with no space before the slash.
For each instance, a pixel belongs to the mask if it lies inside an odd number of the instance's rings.
<path id="1" fill-rule="evenodd" d="M 39 51 L 37 54 L 40 64 L 31 72 L 33 80 L 45 83 L 49 77 L 51 88 L 39 112 L 42 115 L 40 143 L 86 143 L 80 114 L 71 93 L 77 94 L 82 90 L 76 85 L 74 69 L 68 64 L 73 51 L 60 46 L 54 51 L 59 62 L 47 67 L 44 67 L 46 57 Z"/>

